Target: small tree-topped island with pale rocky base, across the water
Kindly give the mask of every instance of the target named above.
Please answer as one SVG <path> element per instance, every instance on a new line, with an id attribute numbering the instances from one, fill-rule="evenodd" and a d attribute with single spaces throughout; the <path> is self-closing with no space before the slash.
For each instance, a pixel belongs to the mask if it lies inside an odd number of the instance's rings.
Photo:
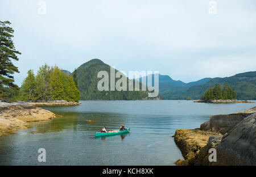
<path id="1" fill-rule="evenodd" d="M 254 103 L 248 100 L 237 100 L 236 91 L 225 83 L 224 87 L 221 84 L 216 84 L 214 87 L 208 88 L 204 96 L 200 100 L 195 100 L 195 103 Z"/>

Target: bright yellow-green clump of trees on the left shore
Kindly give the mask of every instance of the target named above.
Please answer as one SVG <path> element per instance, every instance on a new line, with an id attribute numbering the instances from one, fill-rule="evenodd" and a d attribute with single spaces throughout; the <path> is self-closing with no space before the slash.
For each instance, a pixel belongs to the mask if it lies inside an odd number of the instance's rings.
<path id="1" fill-rule="evenodd" d="M 80 92 L 72 75 L 65 74 L 57 66 L 50 67 L 47 64 L 41 66 L 35 75 L 28 70 L 27 77 L 22 82 L 19 91 L 19 100 L 47 101 L 80 99 Z M 75 79 L 76 80 L 76 79 Z"/>

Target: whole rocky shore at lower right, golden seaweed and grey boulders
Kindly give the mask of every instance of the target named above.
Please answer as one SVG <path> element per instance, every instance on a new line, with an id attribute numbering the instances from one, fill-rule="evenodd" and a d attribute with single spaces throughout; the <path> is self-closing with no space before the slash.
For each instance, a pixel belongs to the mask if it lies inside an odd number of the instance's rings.
<path id="1" fill-rule="evenodd" d="M 256 165 L 256 107 L 212 116 L 200 128 L 179 129 L 173 137 L 184 157 L 176 165 Z M 217 162 L 209 162 L 210 148 L 216 149 Z"/>

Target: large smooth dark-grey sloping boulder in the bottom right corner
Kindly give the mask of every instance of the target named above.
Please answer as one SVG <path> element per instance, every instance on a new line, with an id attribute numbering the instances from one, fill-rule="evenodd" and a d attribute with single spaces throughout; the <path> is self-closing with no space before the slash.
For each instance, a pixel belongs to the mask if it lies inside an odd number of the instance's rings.
<path id="1" fill-rule="evenodd" d="M 209 162 L 209 149 L 216 148 L 217 162 Z M 256 165 L 256 113 L 243 119 L 228 133 L 212 136 L 189 165 Z"/>

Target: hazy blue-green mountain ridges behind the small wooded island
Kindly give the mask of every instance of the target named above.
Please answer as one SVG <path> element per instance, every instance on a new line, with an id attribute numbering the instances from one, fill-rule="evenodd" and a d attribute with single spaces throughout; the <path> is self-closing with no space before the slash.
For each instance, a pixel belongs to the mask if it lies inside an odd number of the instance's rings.
<path id="1" fill-rule="evenodd" d="M 142 78 L 138 80 L 142 81 Z M 225 85 L 225 83 L 234 88 L 237 92 L 237 99 L 256 99 L 256 71 L 225 78 L 204 78 L 189 83 L 175 81 L 168 75 L 159 74 L 159 95 L 162 99 L 187 99 L 188 97 L 200 99 L 209 86 Z"/>

